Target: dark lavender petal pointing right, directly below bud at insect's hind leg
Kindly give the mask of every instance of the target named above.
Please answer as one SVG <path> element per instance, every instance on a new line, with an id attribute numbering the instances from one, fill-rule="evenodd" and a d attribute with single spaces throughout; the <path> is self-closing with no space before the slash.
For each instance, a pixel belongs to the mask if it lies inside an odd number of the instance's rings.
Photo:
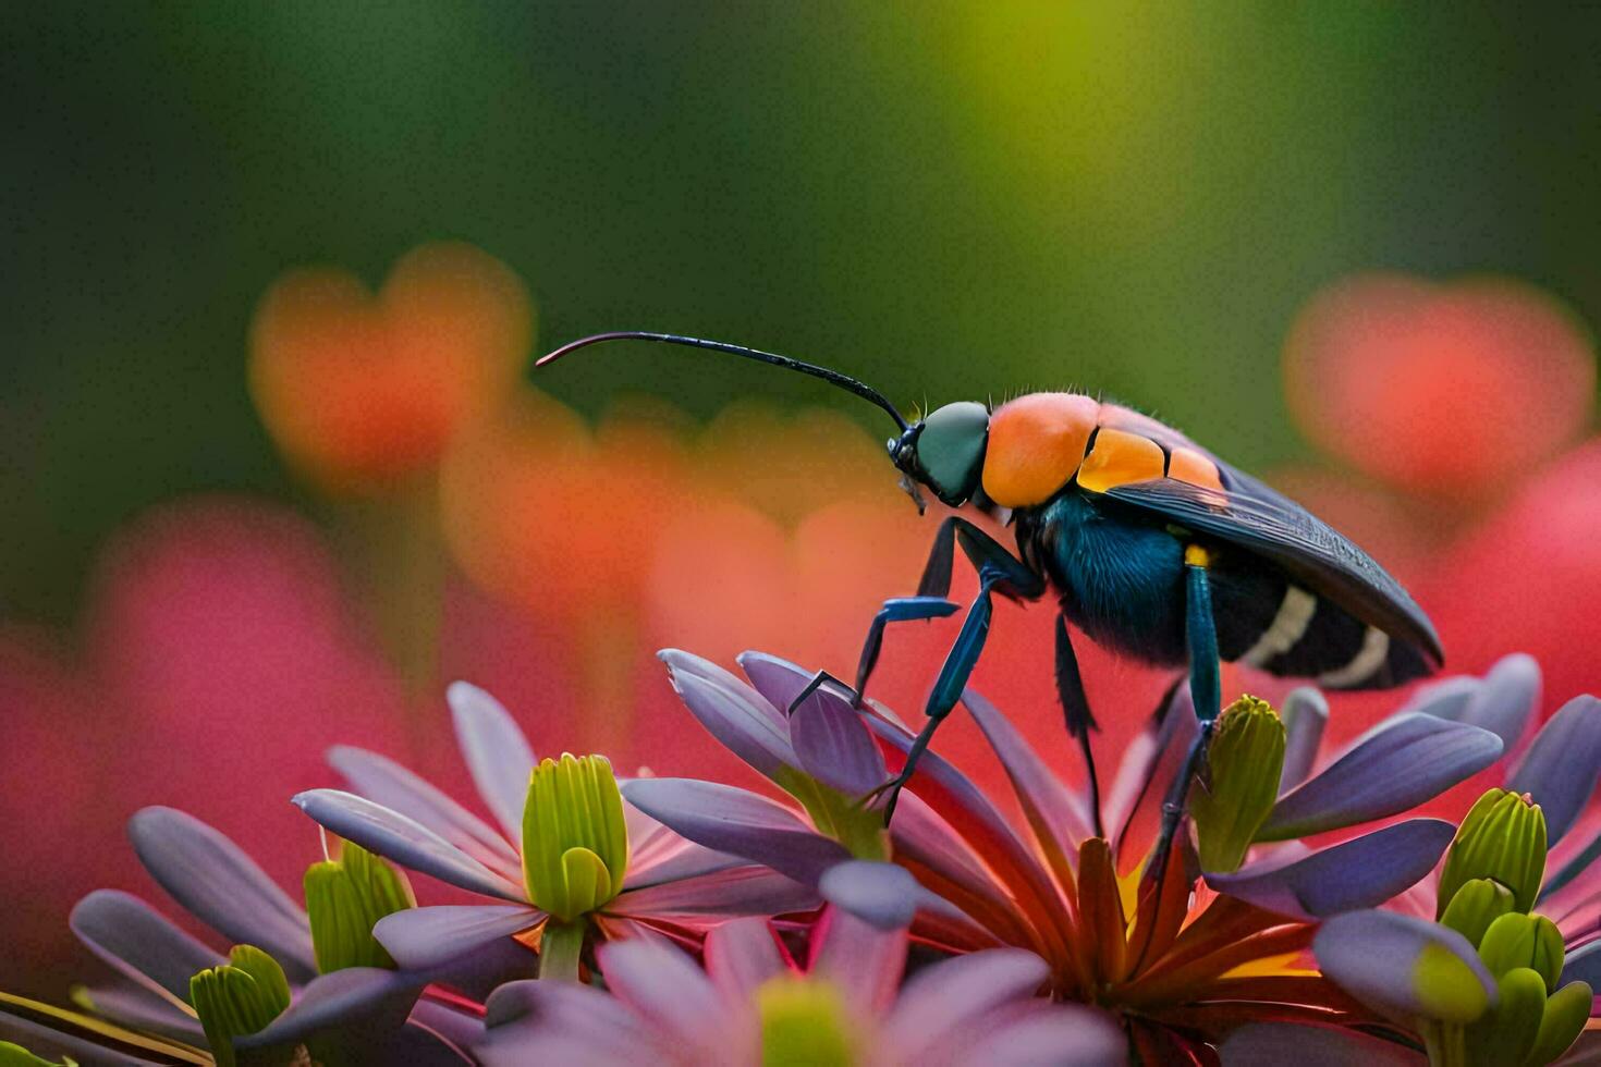
<path id="1" fill-rule="evenodd" d="M 1311 921 L 1375 907 L 1412 886 L 1434 869 L 1454 833 L 1444 819 L 1407 819 L 1305 857 L 1270 857 L 1206 880 L 1218 893 Z"/>

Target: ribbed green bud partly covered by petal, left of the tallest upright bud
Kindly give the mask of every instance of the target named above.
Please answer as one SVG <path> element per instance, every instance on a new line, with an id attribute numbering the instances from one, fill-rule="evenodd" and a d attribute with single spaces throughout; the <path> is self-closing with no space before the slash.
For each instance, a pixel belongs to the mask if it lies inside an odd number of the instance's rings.
<path id="1" fill-rule="evenodd" d="M 347 966 L 394 969 L 395 961 L 373 937 L 384 915 L 415 905 L 405 875 L 360 845 L 346 841 L 339 859 L 306 869 L 306 912 L 322 974 Z"/>

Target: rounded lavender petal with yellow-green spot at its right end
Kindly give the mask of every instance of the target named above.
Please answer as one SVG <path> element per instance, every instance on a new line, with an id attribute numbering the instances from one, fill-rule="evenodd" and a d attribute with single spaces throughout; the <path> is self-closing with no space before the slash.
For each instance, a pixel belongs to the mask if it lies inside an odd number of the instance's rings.
<path id="1" fill-rule="evenodd" d="M 1335 915 L 1318 931 L 1313 952 L 1345 992 L 1407 1025 L 1418 1017 L 1471 1022 L 1497 1000 L 1495 979 L 1468 939 L 1414 915 Z"/>

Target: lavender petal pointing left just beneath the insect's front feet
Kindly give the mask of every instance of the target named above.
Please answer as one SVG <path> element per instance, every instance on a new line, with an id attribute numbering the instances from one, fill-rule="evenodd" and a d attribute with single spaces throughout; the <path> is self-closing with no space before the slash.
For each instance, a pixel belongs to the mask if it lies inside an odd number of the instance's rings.
<path id="1" fill-rule="evenodd" d="M 804 885 L 850 859 L 844 845 L 817 833 L 786 808 L 733 785 L 687 777 L 637 777 L 623 795 L 679 835 L 719 853 L 733 853 Z"/>

